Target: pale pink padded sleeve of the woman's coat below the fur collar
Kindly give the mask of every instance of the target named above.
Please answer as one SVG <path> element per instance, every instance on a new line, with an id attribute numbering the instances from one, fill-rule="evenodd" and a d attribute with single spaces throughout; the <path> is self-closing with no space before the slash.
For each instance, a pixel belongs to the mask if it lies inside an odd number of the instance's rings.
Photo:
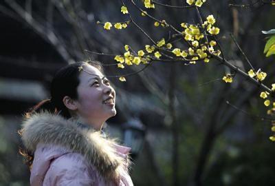
<path id="1" fill-rule="evenodd" d="M 77 153 L 65 154 L 54 159 L 43 181 L 43 186 L 73 185 L 96 185 L 95 177 L 85 158 Z"/>

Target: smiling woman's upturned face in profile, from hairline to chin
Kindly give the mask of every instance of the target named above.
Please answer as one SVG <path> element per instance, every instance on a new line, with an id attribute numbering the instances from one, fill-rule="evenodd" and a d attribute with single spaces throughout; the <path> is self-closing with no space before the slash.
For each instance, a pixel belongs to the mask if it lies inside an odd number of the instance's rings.
<path id="1" fill-rule="evenodd" d="M 77 114 L 94 127 L 115 116 L 115 90 L 94 66 L 84 65 L 79 75 Z M 100 125 L 100 126 L 97 126 Z"/>

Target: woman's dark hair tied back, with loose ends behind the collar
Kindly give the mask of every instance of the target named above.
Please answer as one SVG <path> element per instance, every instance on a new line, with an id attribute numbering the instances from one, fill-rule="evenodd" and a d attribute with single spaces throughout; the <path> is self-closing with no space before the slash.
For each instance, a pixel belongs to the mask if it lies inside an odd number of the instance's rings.
<path id="1" fill-rule="evenodd" d="M 50 87 L 51 98 L 45 99 L 30 108 L 30 110 L 25 113 L 25 118 L 29 118 L 32 114 L 42 111 L 61 114 L 61 116 L 65 118 L 70 118 L 71 115 L 63 103 L 63 98 L 64 96 L 69 96 L 71 99 L 78 99 L 77 87 L 80 83 L 78 76 L 85 65 L 91 65 L 104 74 L 102 65 L 98 61 L 81 61 L 66 65 L 61 68 L 61 70 L 58 70 L 52 79 Z M 22 130 L 19 130 L 19 135 L 22 136 Z M 19 147 L 19 153 L 23 156 L 25 164 L 31 169 L 34 158 L 33 154 L 31 154 L 28 149 L 21 147 Z"/>

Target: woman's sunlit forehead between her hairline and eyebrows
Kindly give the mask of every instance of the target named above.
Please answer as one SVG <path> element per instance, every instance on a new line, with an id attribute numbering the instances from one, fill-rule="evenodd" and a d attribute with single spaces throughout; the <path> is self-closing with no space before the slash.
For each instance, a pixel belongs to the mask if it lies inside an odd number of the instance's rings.
<path id="1" fill-rule="evenodd" d="M 79 79 L 80 81 L 89 81 L 91 78 L 100 78 L 102 79 L 104 75 L 98 68 L 95 68 L 94 66 L 91 65 L 84 65 L 83 70 L 81 70 Z"/>

